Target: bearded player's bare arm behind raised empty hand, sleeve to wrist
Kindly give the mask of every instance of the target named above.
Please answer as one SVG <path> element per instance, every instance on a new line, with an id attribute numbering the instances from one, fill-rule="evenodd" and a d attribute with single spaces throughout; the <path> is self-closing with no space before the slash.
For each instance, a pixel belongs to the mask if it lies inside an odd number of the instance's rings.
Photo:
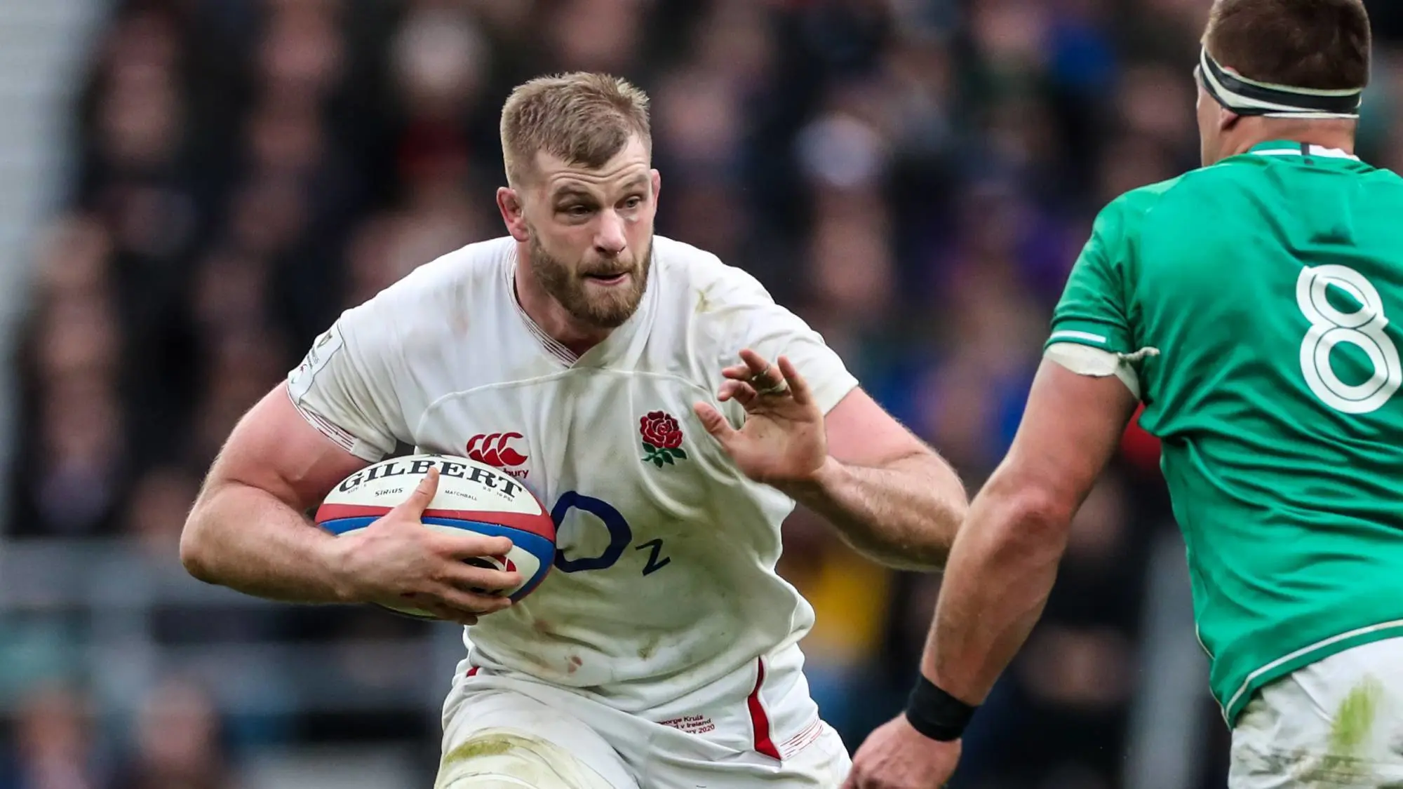
<path id="1" fill-rule="evenodd" d="M 882 564 L 943 566 L 968 507 L 950 463 L 861 389 L 847 393 L 824 423 L 828 460 L 812 482 L 784 491 Z"/>

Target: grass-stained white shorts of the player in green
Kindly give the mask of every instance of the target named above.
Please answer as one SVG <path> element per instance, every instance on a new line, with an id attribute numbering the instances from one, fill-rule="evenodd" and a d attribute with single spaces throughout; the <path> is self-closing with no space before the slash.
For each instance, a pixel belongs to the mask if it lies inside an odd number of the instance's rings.
<path id="1" fill-rule="evenodd" d="M 1263 688 L 1232 734 L 1229 789 L 1403 789 L 1403 639 Z"/>

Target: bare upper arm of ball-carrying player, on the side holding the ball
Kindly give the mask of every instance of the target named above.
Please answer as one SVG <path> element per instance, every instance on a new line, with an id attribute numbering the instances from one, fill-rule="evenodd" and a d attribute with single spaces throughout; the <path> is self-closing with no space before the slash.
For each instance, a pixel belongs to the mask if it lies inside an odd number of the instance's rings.
<path id="1" fill-rule="evenodd" d="M 337 483 L 366 465 L 311 427 L 292 404 L 288 385 L 281 383 L 234 427 L 205 489 L 244 484 L 302 511 L 314 507 Z"/>

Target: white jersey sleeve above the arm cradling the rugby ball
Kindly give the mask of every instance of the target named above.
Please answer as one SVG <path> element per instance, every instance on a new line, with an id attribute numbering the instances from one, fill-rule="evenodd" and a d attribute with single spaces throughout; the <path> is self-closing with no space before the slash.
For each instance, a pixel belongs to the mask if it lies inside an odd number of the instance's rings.
<path id="1" fill-rule="evenodd" d="M 370 463 L 411 442 L 394 390 L 394 334 L 375 312 L 372 300 L 342 313 L 288 373 L 288 394 L 307 423 Z"/>

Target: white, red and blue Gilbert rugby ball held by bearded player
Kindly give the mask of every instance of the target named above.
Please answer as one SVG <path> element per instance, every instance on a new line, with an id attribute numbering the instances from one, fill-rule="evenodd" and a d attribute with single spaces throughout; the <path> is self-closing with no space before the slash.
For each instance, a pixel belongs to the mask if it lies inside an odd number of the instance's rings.
<path id="1" fill-rule="evenodd" d="M 484 556 L 469 563 L 515 570 L 522 584 L 504 594 L 512 601 L 530 594 L 546 578 L 556 559 L 556 524 L 536 496 L 516 477 L 469 458 L 410 455 L 366 466 L 341 480 L 317 508 L 317 525 L 344 536 L 384 517 L 405 498 L 429 469 L 439 470 L 438 491 L 421 522 L 442 532 L 469 531 L 512 541 L 505 556 Z M 414 606 L 391 606 L 398 614 L 435 619 Z"/>

